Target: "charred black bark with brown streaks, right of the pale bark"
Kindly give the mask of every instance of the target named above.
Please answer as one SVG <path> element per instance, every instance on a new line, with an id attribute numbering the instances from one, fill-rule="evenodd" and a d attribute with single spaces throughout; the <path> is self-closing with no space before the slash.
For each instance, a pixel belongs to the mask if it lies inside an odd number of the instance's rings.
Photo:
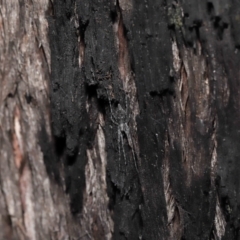
<path id="1" fill-rule="evenodd" d="M 84 167 L 103 114 L 114 239 L 237 239 L 238 3 L 68 4 L 50 34 L 55 135 Z"/>

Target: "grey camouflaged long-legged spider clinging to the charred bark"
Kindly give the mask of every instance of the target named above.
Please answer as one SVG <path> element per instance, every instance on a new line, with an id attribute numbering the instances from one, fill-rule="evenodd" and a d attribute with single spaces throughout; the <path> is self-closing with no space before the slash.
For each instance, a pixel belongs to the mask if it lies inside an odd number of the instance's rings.
<path id="1" fill-rule="evenodd" d="M 108 94 L 108 92 L 107 92 L 107 94 Z M 133 145 L 132 136 L 130 134 L 130 129 L 129 129 L 129 125 L 128 125 L 129 121 L 130 121 L 130 114 L 129 114 L 129 107 L 128 107 L 127 99 L 128 99 L 127 96 L 125 96 L 125 110 L 122 108 L 121 104 L 118 103 L 117 109 L 114 114 L 112 105 L 110 102 L 110 98 L 108 95 L 108 101 L 109 101 L 109 106 L 110 106 L 110 111 L 111 111 L 111 121 L 113 122 L 113 124 L 115 124 L 117 126 L 119 169 L 120 169 L 121 148 L 123 151 L 125 165 L 127 165 L 126 154 L 125 154 L 125 150 L 124 150 L 124 139 L 123 139 L 124 134 L 125 134 L 128 144 L 132 150 L 132 157 L 134 160 L 136 170 L 138 171 L 136 158 L 135 158 L 135 152 L 134 152 L 134 145 Z"/>

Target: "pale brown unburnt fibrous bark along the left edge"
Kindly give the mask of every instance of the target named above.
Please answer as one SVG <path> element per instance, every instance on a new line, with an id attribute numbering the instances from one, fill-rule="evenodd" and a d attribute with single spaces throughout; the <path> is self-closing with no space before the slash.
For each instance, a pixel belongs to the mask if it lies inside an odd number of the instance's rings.
<path id="1" fill-rule="evenodd" d="M 0 239 L 79 237 L 50 130 L 48 1 L 0 4 Z"/>

